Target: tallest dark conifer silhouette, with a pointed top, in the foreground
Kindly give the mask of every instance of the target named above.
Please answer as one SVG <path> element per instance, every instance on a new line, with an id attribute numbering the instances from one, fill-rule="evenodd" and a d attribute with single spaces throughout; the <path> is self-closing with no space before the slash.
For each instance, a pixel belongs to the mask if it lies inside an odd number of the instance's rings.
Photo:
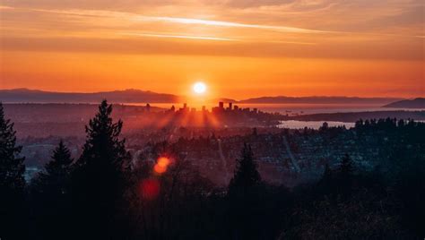
<path id="1" fill-rule="evenodd" d="M 131 158 L 126 141 L 119 139 L 123 122 L 113 123 L 111 113 L 112 105 L 103 100 L 86 126 L 87 139 L 73 173 L 76 217 L 84 236 L 94 238 L 113 238 L 124 226 L 118 221 Z"/>

